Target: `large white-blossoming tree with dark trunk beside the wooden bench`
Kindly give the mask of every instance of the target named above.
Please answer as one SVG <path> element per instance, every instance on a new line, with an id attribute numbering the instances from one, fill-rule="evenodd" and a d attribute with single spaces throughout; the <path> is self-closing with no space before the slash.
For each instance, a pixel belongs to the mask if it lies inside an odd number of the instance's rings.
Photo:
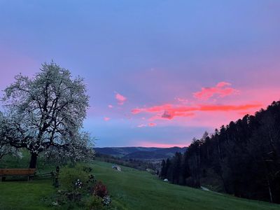
<path id="1" fill-rule="evenodd" d="M 6 118 L 2 139 L 14 148 L 27 148 L 30 168 L 36 168 L 39 153 L 50 149 L 80 151 L 90 142 L 80 131 L 88 100 L 83 79 L 72 79 L 69 70 L 53 62 L 42 64 L 34 78 L 15 76 L 2 99 Z"/>

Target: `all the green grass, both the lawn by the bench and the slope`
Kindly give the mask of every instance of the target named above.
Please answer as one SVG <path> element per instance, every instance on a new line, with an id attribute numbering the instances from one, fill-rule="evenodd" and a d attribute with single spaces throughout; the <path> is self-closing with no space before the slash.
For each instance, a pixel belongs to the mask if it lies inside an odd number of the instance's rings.
<path id="1" fill-rule="evenodd" d="M 97 180 L 108 186 L 117 209 L 280 209 L 277 204 L 172 185 L 136 169 L 122 167 L 122 172 L 117 172 L 106 162 L 94 161 L 90 165 Z M 54 192 L 51 179 L 35 179 L 29 183 L 5 181 L 0 183 L 0 209 L 53 209 L 41 198 Z"/>

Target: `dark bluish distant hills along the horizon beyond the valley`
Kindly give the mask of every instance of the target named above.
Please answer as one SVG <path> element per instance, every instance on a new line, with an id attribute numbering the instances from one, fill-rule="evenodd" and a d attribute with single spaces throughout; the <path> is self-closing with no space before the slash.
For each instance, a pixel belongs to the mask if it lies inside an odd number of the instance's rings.
<path id="1" fill-rule="evenodd" d="M 186 147 L 156 148 L 156 147 L 104 147 L 94 148 L 97 153 L 112 155 L 123 159 L 160 160 L 171 158 L 176 152 L 184 153 Z"/>

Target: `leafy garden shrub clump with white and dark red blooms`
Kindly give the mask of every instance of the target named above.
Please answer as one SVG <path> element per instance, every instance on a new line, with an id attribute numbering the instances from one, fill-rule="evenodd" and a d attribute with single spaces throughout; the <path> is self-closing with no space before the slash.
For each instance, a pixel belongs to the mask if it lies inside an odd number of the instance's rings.
<path id="1" fill-rule="evenodd" d="M 78 164 L 76 167 L 62 167 L 58 174 L 61 187 L 57 193 L 45 199 L 52 207 L 69 207 L 74 209 L 77 205 L 83 209 L 112 209 L 111 197 L 104 184 L 96 183 L 95 176 L 90 174 L 92 168 Z"/>

